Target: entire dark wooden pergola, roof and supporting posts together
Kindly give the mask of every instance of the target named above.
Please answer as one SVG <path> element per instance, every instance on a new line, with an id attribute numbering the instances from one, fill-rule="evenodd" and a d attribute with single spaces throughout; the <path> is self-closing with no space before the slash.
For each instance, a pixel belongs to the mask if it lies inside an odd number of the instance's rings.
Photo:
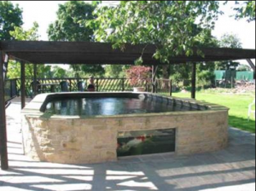
<path id="1" fill-rule="evenodd" d="M 156 68 L 163 65 L 153 58 L 156 47 L 153 44 L 125 44 L 124 49 L 113 49 L 111 43 L 88 42 L 43 42 L 43 41 L 0 41 L 0 154 L 1 168 L 9 168 L 7 151 L 7 130 L 4 101 L 4 80 L 6 78 L 9 60 L 20 61 L 21 70 L 21 107 L 25 107 L 25 65 L 34 64 L 34 81 L 38 64 L 90 64 L 90 65 L 134 65 L 143 53 L 144 65 L 153 66 L 153 82 Z M 172 57 L 170 64 L 191 63 L 192 93 L 195 98 L 196 63 L 208 61 L 247 60 L 255 72 L 251 59 L 255 59 L 255 49 L 219 49 L 201 48 L 204 56 L 180 55 Z M 172 51 L 172 49 L 170 49 Z M 34 84 L 35 90 L 35 84 Z"/>

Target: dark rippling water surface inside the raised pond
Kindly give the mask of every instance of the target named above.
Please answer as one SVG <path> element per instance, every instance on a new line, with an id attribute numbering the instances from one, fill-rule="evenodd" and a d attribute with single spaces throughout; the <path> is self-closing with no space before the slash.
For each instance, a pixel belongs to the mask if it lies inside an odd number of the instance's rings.
<path id="1" fill-rule="evenodd" d="M 157 101 L 136 98 L 78 98 L 61 99 L 48 103 L 45 112 L 56 115 L 120 115 L 132 113 L 167 113 L 180 111 L 197 111 L 179 105 L 172 106 Z"/>

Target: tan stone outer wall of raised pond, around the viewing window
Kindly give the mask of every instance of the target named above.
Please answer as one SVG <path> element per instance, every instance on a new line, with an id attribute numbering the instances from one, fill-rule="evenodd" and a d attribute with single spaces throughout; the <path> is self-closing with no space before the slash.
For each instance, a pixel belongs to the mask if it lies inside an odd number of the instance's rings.
<path id="1" fill-rule="evenodd" d="M 228 110 L 143 114 L 93 119 L 44 118 L 24 114 L 23 141 L 32 159 L 67 164 L 117 160 L 117 135 L 131 130 L 177 130 L 176 154 L 225 148 Z"/>

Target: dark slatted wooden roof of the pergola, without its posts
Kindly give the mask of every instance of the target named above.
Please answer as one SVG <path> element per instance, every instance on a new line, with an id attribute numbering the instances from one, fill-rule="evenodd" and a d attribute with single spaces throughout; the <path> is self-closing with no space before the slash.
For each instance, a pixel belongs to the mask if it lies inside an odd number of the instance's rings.
<path id="1" fill-rule="evenodd" d="M 111 43 L 89 42 L 0 42 L 0 49 L 10 56 L 10 59 L 26 61 L 33 64 L 120 64 L 133 65 L 143 53 L 145 65 L 160 65 L 154 59 L 154 45 L 125 44 L 125 49 L 113 49 Z M 170 50 L 172 51 L 172 50 Z M 201 48 L 205 55 L 180 55 L 170 58 L 170 64 L 202 61 L 235 61 L 255 58 L 253 49 L 219 49 Z"/>

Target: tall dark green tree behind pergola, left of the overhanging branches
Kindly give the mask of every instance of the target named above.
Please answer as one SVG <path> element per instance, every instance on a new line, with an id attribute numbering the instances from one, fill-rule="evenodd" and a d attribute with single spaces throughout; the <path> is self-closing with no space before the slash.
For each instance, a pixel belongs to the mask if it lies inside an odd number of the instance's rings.
<path id="1" fill-rule="evenodd" d="M 96 5 L 96 4 L 95 4 Z M 59 5 L 57 20 L 49 25 L 48 36 L 52 41 L 94 41 L 93 27 L 86 26 L 88 20 L 95 19 L 92 14 L 95 6 L 83 1 L 70 1 Z M 76 75 L 102 75 L 104 68 L 95 65 L 72 65 Z"/>

